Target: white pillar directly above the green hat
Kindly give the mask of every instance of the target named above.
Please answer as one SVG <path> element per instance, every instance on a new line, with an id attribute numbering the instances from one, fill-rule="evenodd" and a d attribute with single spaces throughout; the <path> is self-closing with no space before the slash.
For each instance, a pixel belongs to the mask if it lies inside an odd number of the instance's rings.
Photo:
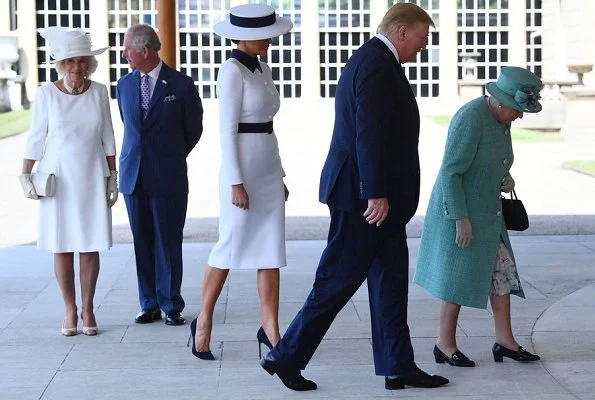
<path id="1" fill-rule="evenodd" d="M 527 67 L 527 6 L 524 1 L 508 2 L 508 62 Z"/>

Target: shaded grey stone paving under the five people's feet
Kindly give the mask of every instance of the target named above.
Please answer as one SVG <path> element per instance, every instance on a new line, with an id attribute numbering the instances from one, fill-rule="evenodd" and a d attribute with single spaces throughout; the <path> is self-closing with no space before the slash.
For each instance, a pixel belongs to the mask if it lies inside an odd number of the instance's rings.
<path id="1" fill-rule="evenodd" d="M 475 368 L 434 363 L 439 302 L 410 286 L 409 324 L 416 361 L 451 384 L 387 391 L 374 375 L 365 285 L 339 314 L 304 375 L 319 389 L 292 392 L 258 365 L 260 311 L 254 271 L 233 271 L 215 311 L 216 360 L 194 358 L 188 324 L 138 325 L 133 249 L 101 255 L 95 297 L 100 334 L 60 335 L 63 305 L 52 256 L 33 246 L 0 249 L 0 399 L 594 399 L 595 236 L 513 237 L 527 299 L 513 299 L 519 342 L 542 362 L 521 364 L 491 355 L 489 309 L 463 309 L 458 342 Z M 410 239 L 415 265 L 419 239 Z M 184 245 L 184 313 L 199 311 L 202 273 L 212 243 Z M 323 241 L 288 242 L 282 270 L 281 330 L 309 292 Z M 411 274 L 413 271 L 411 271 Z M 80 303 L 79 303 L 80 304 Z"/>

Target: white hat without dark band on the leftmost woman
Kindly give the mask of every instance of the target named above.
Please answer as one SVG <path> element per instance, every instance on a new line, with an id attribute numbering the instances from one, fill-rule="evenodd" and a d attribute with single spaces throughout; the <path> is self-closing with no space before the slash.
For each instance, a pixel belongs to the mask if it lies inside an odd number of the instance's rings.
<path id="1" fill-rule="evenodd" d="M 109 47 L 91 50 L 91 38 L 81 28 L 50 26 L 39 30 L 50 49 L 51 63 L 73 57 L 95 56 Z"/>

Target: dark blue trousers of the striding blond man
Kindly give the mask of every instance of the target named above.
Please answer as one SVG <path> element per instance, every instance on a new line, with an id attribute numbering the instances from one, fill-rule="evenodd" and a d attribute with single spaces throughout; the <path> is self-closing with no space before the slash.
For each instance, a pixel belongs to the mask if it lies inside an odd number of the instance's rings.
<path id="1" fill-rule="evenodd" d="M 368 280 L 377 375 L 414 366 L 407 325 L 409 253 L 405 226 L 370 226 L 360 213 L 331 208 L 331 225 L 310 295 L 271 355 L 305 369 L 331 323 Z"/>

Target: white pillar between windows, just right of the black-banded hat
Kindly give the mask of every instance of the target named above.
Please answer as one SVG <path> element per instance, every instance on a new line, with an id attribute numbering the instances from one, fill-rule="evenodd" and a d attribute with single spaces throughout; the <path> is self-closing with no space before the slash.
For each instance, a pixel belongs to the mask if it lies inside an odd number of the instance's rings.
<path id="1" fill-rule="evenodd" d="M 302 100 L 320 99 L 318 2 L 302 2 Z"/>

